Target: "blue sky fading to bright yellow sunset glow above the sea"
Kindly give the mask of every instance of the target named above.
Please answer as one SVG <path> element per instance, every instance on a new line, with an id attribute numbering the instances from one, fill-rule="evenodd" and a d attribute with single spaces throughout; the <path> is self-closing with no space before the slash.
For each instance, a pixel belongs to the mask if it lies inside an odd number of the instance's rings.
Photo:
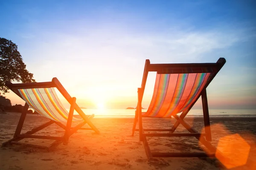
<path id="1" fill-rule="evenodd" d="M 0 37 L 18 45 L 37 82 L 57 77 L 86 108 L 136 107 L 145 59 L 224 57 L 207 88 L 209 109 L 256 109 L 255 6 L 253 0 L 0 0 Z M 144 108 L 155 77 L 148 76 Z M 24 104 L 12 92 L 4 96 Z"/>

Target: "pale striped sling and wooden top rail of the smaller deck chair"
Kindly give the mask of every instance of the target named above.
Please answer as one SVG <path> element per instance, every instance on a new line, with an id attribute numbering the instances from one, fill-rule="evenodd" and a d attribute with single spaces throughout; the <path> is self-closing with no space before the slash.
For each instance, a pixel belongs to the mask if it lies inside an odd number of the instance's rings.
<path id="1" fill-rule="evenodd" d="M 52 119 L 56 122 L 66 123 L 69 113 L 64 108 L 54 89 L 55 87 L 57 87 L 56 84 L 58 83 L 60 84 L 60 82 L 58 82 L 58 79 L 53 78 L 52 82 L 17 84 L 6 82 L 6 86 L 10 88 L 13 92 L 15 92 L 15 94 L 20 96 L 29 105 L 30 108 L 34 109 L 42 116 L 45 116 L 48 119 Z M 61 87 L 63 88 L 62 85 Z M 71 98 L 70 95 L 67 94 L 67 91 L 65 91 L 64 93 L 66 93 L 66 96 L 64 96 L 66 99 Z M 79 115 L 77 117 L 73 116 L 72 119 L 73 122 L 81 120 L 82 118 Z"/>

